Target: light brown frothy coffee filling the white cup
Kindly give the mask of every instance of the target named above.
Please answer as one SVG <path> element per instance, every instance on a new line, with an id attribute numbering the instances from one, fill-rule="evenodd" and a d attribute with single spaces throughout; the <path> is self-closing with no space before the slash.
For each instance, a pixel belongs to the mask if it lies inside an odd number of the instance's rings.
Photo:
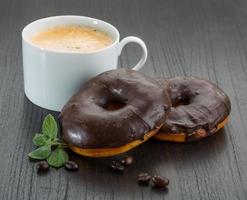
<path id="1" fill-rule="evenodd" d="M 56 26 L 31 36 L 30 41 L 40 48 L 62 52 L 89 53 L 113 43 L 106 33 L 85 26 Z"/>

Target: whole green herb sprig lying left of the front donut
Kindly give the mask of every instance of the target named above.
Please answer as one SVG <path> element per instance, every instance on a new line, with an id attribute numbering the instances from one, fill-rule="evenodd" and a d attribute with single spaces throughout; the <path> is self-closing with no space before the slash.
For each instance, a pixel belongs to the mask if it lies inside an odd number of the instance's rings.
<path id="1" fill-rule="evenodd" d="M 28 156 L 35 160 L 47 160 L 52 167 L 62 167 L 69 160 L 64 150 L 67 145 L 57 138 L 58 126 L 54 117 L 49 114 L 42 124 L 42 132 L 36 133 L 32 141 L 37 149 Z M 55 149 L 54 149 L 55 148 Z"/>

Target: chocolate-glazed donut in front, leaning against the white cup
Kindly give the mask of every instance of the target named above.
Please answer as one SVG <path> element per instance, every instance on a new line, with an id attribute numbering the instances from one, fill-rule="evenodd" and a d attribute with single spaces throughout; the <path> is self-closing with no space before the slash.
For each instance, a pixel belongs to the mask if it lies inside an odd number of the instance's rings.
<path id="1" fill-rule="evenodd" d="M 81 87 L 60 114 L 62 136 L 78 154 L 123 153 L 153 136 L 171 106 L 167 90 L 133 70 L 104 72 Z"/>

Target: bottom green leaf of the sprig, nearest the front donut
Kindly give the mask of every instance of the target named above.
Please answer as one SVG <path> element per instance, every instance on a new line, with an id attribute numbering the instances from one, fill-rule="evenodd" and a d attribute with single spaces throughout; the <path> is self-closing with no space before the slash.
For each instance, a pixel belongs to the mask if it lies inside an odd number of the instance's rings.
<path id="1" fill-rule="evenodd" d="M 52 167 L 62 167 L 68 160 L 69 156 L 67 152 L 60 146 L 58 146 L 47 158 L 47 162 Z"/>

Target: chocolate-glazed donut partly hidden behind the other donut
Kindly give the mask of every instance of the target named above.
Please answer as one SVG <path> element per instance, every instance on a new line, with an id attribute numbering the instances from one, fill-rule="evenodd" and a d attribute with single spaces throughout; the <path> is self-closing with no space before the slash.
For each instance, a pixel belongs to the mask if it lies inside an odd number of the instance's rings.
<path id="1" fill-rule="evenodd" d="M 173 142 L 196 141 L 216 133 L 228 121 L 231 103 L 215 84 L 194 77 L 158 80 L 168 87 L 172 108 L 154 138 Z"/>

